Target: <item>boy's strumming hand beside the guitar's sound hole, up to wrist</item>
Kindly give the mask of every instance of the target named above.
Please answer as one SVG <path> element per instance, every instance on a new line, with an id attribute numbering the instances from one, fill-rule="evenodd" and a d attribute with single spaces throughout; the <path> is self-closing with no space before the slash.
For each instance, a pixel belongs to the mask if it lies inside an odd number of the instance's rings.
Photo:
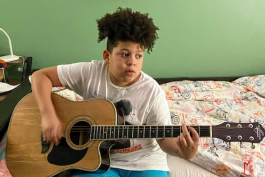
<path id="1" fill-rule="evenodd" d="M 62 138 L 62 123 L 58 117 L 42 117 L 41 129 L 43 138 L 50 142 L 58 145 Z"/>

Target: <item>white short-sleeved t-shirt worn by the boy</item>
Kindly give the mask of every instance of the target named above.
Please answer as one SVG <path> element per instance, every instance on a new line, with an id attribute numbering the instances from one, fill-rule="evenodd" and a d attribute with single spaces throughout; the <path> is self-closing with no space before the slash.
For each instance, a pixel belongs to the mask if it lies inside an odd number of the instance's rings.
<path id="1" fill-rule="evenodd" d="M 128 100 L 132 110 L 125 120 L 134 125 L 171 124 L 165 94 L 158 83 L 141 72 L 141 77 L 127 87 L 114 85 L 103 61 L 59 65 L 58 76 L 63 86 L 85 99 L 106 98 L 112 103 Z M 166 153 L 156 139 L 131 139 L 126 149 L 111 153 L 111 167 L 125 170 L 168 171 Z"/>

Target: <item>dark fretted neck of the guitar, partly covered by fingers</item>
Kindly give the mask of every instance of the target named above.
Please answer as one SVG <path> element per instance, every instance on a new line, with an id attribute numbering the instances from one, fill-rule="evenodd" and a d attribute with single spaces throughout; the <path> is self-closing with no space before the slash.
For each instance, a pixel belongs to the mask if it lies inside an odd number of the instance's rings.
<path id="1" fill-rule="evenodd" d="M 212 126 L 192 126 L 200 137 L 212 137 Z M 182 133 L 181 126 L 91 126 L 91 140 L 133 139 L 133 138 L 173 138 Z"/>

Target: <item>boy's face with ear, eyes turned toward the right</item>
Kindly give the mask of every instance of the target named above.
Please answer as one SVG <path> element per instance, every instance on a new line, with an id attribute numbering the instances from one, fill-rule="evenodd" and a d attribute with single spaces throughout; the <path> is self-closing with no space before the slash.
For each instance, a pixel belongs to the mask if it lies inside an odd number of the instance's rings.
<path id="1" fill-rule="evenodd" d="M 140 44 L 130 41 L 119 41 L 112 53 L 104 50 L 103 59 L 109 65 L 112 83 L 120 87 L 135 83 L 141 76 L 143 56 Z"/>

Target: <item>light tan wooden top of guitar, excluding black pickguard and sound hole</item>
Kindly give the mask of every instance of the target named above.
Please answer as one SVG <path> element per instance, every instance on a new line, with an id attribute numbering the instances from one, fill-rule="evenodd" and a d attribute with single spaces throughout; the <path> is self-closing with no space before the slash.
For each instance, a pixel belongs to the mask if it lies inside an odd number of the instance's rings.
<path id="1" fill-rule="evenodd" d="M 62 130 L 66 140 L 69 139 L 69 122 L 74 118 L 88 116 L 91 125 L 116 125 L 116 109 L 112 103 L 104 99 L 91 99 L 83 102 L 67 100 L 52 94 L 58 117 L 62 121 Z M 81 115 L 81 118 L 78 116 Z M 95 122 L 96 120 L 96 122 Z M 71 123 L 70 123 L 71 124 Z M 25 96 L 16 106 L 10 120 L 7 138 L 6 163 L 14 177 L 46 177 L 54 176 L 66 169 L 95 171 L 101 165 L 99 146 L 101 140 L 89 141 L 82 160 L 70 165 L 53 165 L 47 156 L 56 147 L 53 144 L 45 153 L 41 143 L 41 116 L 33 94 Z M 73 146 L 73 148 L 78 148 Z"/>

